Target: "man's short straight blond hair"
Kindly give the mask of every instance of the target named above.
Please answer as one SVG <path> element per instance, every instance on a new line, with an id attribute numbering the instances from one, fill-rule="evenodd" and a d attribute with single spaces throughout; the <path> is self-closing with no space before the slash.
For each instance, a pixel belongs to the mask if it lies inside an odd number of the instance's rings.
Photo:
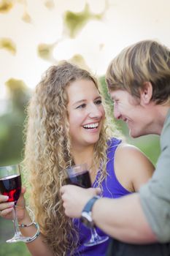
<path id="1" fill-rule="evenodd" d="M 109 64 L 106 75 L 110 91 L 128 91 L 139 97 L 144 82 L 152 83 L 152 100 L 157 104 L 170 98 L 170 51 L 153 40 L 125 48 Z"/>

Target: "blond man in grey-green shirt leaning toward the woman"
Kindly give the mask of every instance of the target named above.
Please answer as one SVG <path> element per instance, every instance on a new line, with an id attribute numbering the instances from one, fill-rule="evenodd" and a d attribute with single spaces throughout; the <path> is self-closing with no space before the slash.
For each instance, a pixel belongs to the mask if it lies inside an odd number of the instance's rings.
<path id="1" fill-rule="evenodd" d="M 82 216 L 82 221 L 86 219 L 91 225 L 94 222 L 120 241 L 169 242 L 170 50 L 152 40 L 131 45 L 113 59 L 106 80 L 114 101 L 115 118 L 125 121 L 133 138 L 161 135 L 161 155 L 155 173 L 139 193 L 118 199 L 98 199 L 94 196 L 99 189 L 63 186 L 66 215 Z"/>

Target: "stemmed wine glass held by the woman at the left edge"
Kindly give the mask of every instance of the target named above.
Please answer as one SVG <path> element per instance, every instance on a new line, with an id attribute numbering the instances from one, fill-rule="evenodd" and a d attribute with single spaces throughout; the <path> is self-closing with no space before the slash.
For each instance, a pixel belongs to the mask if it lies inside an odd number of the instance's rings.
<path id="1" fill-rule="evenodd" d="M 29 237 L 24 237 L 20 233 L 16 214 L 16 204 L 21 192 L 20 165 L 0 167 L 0 192 L 1 195 L 9 196 L 7 202 L 15 202 L 13 206 L 15 235 L 6 242 L 15 243 L 18 241 L 28 241 Z"/>

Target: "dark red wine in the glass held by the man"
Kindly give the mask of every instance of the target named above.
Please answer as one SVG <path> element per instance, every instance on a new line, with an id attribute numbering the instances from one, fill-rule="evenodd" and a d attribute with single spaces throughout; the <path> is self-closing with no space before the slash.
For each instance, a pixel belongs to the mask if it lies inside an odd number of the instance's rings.
<path id="1" fill-rule="evenodd" d="M 77 185 L 79 187 L 84 187 L 88 189 L 91 187 L 90 175 L 89 172 L 80 173 L 77 176 L 71 176 L 65 179 L 66 184 Z"/>

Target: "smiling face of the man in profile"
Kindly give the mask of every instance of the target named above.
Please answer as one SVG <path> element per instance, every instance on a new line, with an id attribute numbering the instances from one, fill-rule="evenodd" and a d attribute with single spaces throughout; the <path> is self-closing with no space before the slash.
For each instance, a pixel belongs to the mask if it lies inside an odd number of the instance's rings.
<path id="1" fill-rule="evenodd" d="M 147 116 L 149 109 L 141 105 L 140 99 L 123 90 L 110 91 L 110 95 L 114 102 L 114 116 L 125 121 L 131 137 L 137 138 L 150 133 L 152 120 Z"/>

